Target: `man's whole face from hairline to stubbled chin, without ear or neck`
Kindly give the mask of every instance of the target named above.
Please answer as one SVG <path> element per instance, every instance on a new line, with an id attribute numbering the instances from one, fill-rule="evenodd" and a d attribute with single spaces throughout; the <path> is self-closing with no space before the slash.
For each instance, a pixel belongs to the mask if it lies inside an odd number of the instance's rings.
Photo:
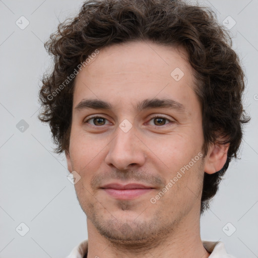
<path id="1" fill-rule="evenodd" d="M 184 52 L 149 42 L 103 48 L 77 75 L 68 168 L 101 235 L 139 243 L 199 216 L 205 160 L 194 87 Z"/>

